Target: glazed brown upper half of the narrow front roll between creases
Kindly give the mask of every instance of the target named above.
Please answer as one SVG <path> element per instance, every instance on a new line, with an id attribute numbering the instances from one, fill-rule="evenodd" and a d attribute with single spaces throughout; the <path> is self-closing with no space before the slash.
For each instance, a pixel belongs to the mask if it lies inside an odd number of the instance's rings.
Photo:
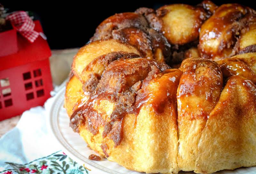
<path id="1" fill-rule="evenodd" d="M 206 59 L 190 58 L 182 62 L 180 69 L 183 71 L 177 90 L 180 119 L 207 119 L 223 88 L 218 64 Z"/>

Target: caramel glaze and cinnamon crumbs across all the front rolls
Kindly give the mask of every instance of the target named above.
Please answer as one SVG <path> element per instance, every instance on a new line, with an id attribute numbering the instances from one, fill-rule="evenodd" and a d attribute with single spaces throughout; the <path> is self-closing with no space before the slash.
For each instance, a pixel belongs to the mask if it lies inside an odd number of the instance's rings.
<path id="1" fill-rule="evenodd" d="M 123 138 L 124 116 L 128 113 L 137 116 L 141 107 L 146 103 L 153 108 L 157 115 L 161 115 L 164 113 L 166 105 L 173 106 L 177 112 L 178 100 L 179 104 L 189 105 L 189 110 L 193 108 L 193 111 L 184 111 L 191 112 L 191 114 L 193 112 L 191 119 L 198 116 L 207 119 L 210 111 L 219 100 L 223 88 L 223 77 L 240 75 L 251 80 L 255 77 L 255 74 L 252 75 L 250 69 L 245 67 L 241 61 L 231 60 L 230 58 L 218 63 L 219 65 L 206 59 L 190 58 L 182 63 L 180 69 L 169 69 L 165 64 L 150 61 L 146 58 L 113 61 L 105 69 L 95 91 L 88 92 L 89 99 L 80 107 L 77 107 L 70 117 L 70 127 L 75 132 L 79 132 L 79 125 L 86 124 L 87 129 L 93 135 L 96 135 L 98 134 L 98 127 L 104 126 L 102 137 L 108 136 L 114 141 L 116 147 L 120 145 Z M 230 69 L 228 69 L 228 72 L 225 71 L 226 67 L 229 68 L 227 65 L 233 66 L 233 64 L 238 63 L 246 72 L 240 70 L 241 68 L 236 70 L 236 74 L 234 74 L 235 70 L 234 72 Z M 143 70 L 141 70 L 141 67 L 143 67 Z M 123 72 L 125 76 L 123 76 Z M 222 76 L 222 72 L 224 76 Z M 132 80 L 129 78 L 132 78 Z M 123 83 L 120 79 L 126 81 Z M 113 80 L 116 81 L 113 82 Z M 193 86 L 196 88 L 192 88 Z M 206 97 L 204 94 L 207 94 Z M 195 106 L 196 104 L 190 101 L 181 102 L 187 95 L 196 97 L 200 105 Z M 115 104 L 109 122 L 102 119 L 103 114 L 106 113 L 100 113 L 94 109 L 94 104 L 102 99 L 112 101 Z M 124 101 L 126 103 L 127 101 L 131 102 L 128 102 L 127 105 L 120 105 L 124 104 Z M 180 105 L 178 105 L 178 111 L 179 107 Z M 204 108 L 203 113 L 200 108 Z M 184 113 L 179 114 L 183 115 Z M 106 144 L 102 144 L 102 148 L 105 149 L 105 152 L 108 149 Z M 106 156 L 108 157 L 108 155 Z"/>

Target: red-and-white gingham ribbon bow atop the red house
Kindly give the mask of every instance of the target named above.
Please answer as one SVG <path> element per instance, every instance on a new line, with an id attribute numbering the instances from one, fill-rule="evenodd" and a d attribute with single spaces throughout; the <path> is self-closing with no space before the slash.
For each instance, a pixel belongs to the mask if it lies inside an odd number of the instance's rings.
<path id="1" fill-rule="evenodd" d="M 6 20 L 10 20 L 12 27 L 31 43 L 33 43 L 39 35 L 42 36 L 43 39 L 46 39 L 44 33 L 34 31 L 35 23 L 25 11 L 15 11 L 7 16 Z"/>

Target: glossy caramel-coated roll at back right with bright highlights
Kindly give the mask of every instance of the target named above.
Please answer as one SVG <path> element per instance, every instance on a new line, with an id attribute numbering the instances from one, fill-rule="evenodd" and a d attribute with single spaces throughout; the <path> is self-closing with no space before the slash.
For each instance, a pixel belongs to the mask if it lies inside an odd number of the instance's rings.
<path id="1" fill-rule="evenodd" d="M 223 4 L 201 27 L 199 48 L 204 58 L 220 57 L 225 51 L 231 54 L 244 22 L 240 20 L 246 15 L 247 9 L 239 4 Z M 231 48 L 231 51 L 226 49 Z M 228 56 L 228 55 L 227 55 Z"/>

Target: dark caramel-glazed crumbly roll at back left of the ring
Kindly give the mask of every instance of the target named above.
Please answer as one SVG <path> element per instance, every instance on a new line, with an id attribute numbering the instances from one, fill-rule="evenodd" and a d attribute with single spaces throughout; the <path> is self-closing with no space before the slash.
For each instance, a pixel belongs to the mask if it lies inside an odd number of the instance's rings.
<path id="1" fill-rule="evenodd" d="M 139 13 L 118 13 L 105 19 L 97 27 L 91 41 L 111 38 L 134 46 L 150 59 L 164 62 L 170 57 L 170 44 L 161 33 L 150 28 Z"/>

